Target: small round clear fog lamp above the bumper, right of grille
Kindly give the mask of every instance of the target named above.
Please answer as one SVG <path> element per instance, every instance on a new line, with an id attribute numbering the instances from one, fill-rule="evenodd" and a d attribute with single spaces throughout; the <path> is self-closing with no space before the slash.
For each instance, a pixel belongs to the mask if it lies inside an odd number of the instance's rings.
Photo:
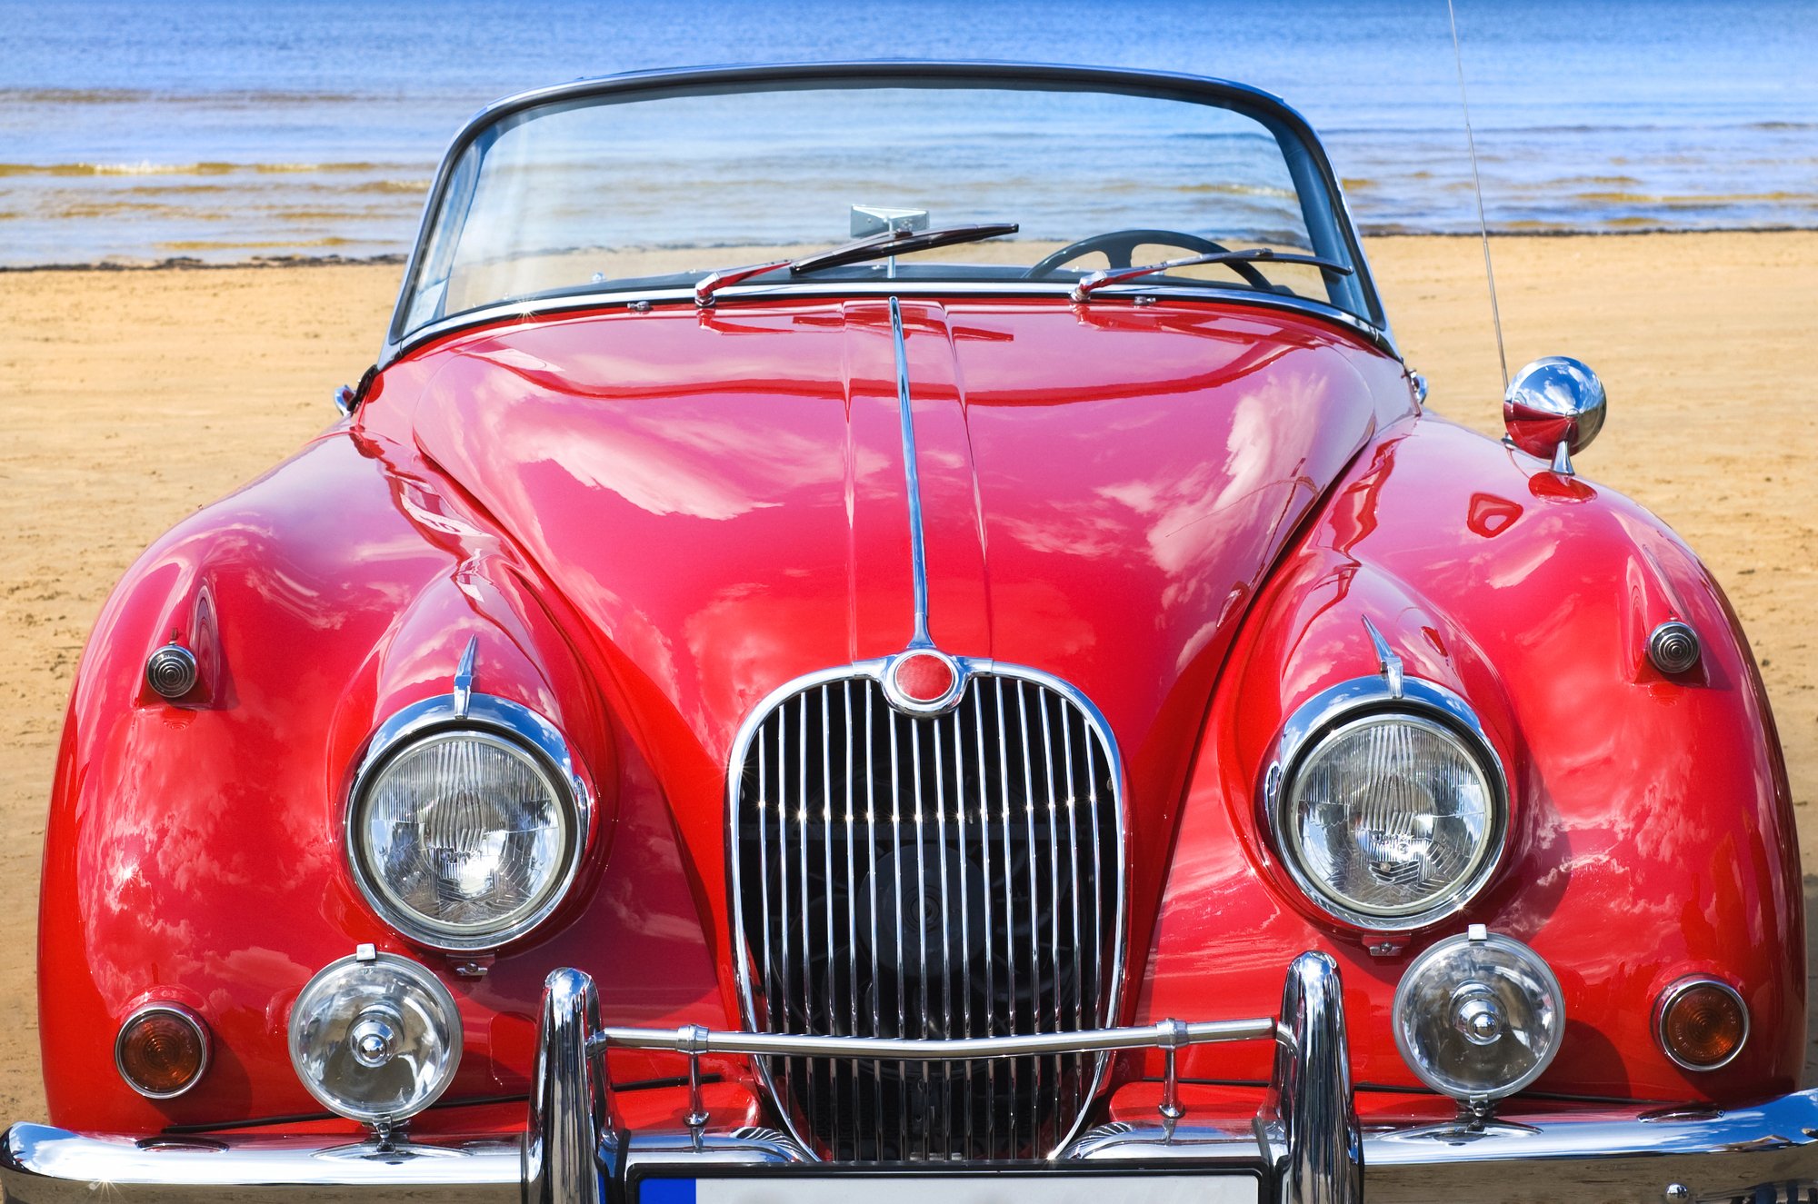
<path id="1" fill-rule="evenodd" d="M 1553 969 L 1480 924 L 1413 960 L 1393 1015 L 1394 1044 L 1414 1077 L 1471 1108 L 1534 1082 L 1565 1033 Z"/>

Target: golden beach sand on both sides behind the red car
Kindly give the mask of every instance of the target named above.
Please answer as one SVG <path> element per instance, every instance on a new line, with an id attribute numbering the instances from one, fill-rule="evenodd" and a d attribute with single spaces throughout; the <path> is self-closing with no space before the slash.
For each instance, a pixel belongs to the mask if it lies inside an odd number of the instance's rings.
<path id="1" fill-rule="evenodd" d="M 1478 244 L 1367 251 L 1433 407 L 1500 433 Z M 1609 387 L 1580 471 L 1683 533 L 1742 615 L 1818 869 L 1818 233 L 1502 238 L 1496 269 L 1511 366 L 1574 355 Z M 398 273 L 0 273 L 0 1120 L 44 1115 L 44 809 L 102 598 L 173 520 L 335 416 L 329 395 L 373 360 Z"/>

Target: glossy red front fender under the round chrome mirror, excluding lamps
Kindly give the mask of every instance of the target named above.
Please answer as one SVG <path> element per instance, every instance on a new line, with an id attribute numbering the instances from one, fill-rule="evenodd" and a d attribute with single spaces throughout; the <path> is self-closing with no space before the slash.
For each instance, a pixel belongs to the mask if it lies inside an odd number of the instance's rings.
<path id="1" fill-rule="evenodd" d="M 1498 871 L 1460 913 L 1407 937 L 1313 906 L 1258 806 L 1287 717 L 1378 671 L 1365 618 L 1409 677 L 1471 702 L 1509 771 Z M 1645 651 L 1669 618 L 1702 640 L 1678 677 Z M 1345 980 L 1356 1082 L 1423 1091 L 1391 1035 L 1394 988 L 1434 940 L 1485 924 L 1533 946 L 1565 995 L 1562 1053 L 1533 1091 L 1778 1095 L 1798 1086 L 1805 1044 L 1796 848 L 1767 695 L 1696 557 L 1616 493 L 1431 416 L 1396 424 L 1336 486 L 1233 646 L 1138 1018 L 1269 1015 L 1285 958 L 1325 949 Z M 1749 1008 L 1749 1040 L 1718 1071 L 1678 1068 L 1654 1037 L 1656 998 L 1693 973 Z M 1182 1073 L 1264 1080 L 1267 1051 L 1196 1049 Z"/>

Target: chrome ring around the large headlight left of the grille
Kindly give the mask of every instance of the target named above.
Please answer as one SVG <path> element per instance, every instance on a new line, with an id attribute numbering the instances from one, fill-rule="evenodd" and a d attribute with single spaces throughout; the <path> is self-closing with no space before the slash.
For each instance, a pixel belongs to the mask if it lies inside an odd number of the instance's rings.
<path id="1" fill-rule="evenodd" d="M 425 740 L 447 735 L 474 735 L 511 746 L 513 751 L 534 760 L 560 789 L 562 804 L 571 824 L 562 868 L 556 873 L 556 886 L 538 904 L 536 909 L 484 931 L 449 933 L 424 924 L 413 911 L 400 908 L 373 880 L 367 851 L 362 840 L 362 806 L 367 789 L 378 780 L 380 771 L 402 753 Z M 347 788 L 347 806 L 344 815 L 344 853 L 347 869 L 362 898 L 402 937 L 429 949 L 447 953 L 471 953 L 478 949 L 496 949 L 509 944 L 547 920 L 567 898 L 580 875 L 580 866 L 587 851 L 589 829 L 593 826 L 593 793 L 582 777 L 578 760 L 567 740 L 547 718 L 536 711 L 500 698 L 496 695 L 445 695 L 415 702 L 395 713 L 367 742 L 360 768 Z"/>

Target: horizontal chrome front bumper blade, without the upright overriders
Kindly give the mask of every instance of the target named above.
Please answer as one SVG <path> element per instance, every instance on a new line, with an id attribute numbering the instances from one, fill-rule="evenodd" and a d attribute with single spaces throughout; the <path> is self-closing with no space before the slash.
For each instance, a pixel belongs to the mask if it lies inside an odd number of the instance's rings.
<path id="1" fill-rule="evenodd" d="M 1051 1173 L 1098 1166 L 1191 1162 L 1211 1171 L 1254 1166 L 1276 1135 L 1256 1128 L 1105 1124 L 1084 1133 Z M 1398 1204 L 1667 1204 L 1751 1200 L 1793 1204 L 1818 1186 L 1818 1091 L 1745 1108 L 1636 1108 L 1511 1113 L 1482 1128 L 1376 1126 L 1362 1133 L 1371 1199 Z M 0 1188 L 18 1204 L 520 1204 L 522 1151 L 514 1139 L 435 1137 L 380 1149 L 333 1137 L 220 1133 L 153 1137 L 71 1133 L 15 1124 L 0 1142 Z M 767 1129 L 638 1133 L 625 1166 L 713 1177 L 805 1162 Z M 604 1164 L 604 1166 L 609 1166 Z M 931 1168 L 933 1169 L 933 1168 Z M 1180 1169 L 1187 1169 L 1180 1166 Z M 851 1179 L 854 1195 L 864 1177 Z M 1691 1184 L 1678 1195 L 1671 1188 Z"/>

